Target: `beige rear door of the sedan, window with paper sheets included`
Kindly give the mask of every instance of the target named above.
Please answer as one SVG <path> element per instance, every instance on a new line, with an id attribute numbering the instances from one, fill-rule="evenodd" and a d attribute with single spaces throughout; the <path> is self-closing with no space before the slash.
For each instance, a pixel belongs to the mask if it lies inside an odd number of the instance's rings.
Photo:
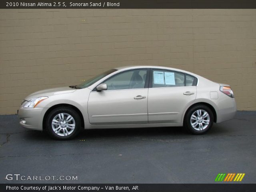
<path id="1" fill-rule="evenodd" d="M 182 114 L 196 99 L 197 79 L 188 74 L 152 69 L 148 89 L 148 122 L 181 122 Z"/>

